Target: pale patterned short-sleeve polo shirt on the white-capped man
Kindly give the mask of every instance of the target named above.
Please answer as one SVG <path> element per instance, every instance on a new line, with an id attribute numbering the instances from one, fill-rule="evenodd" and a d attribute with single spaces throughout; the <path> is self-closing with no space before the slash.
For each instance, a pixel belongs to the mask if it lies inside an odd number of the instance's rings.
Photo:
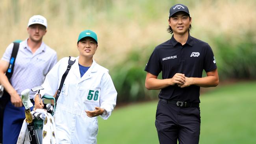
<path id="1" fill-rule="evenodd" d="M 42 85 L 46 74 L 57 63 L 57 53 L 55 50 L 42 42 L 41 46 L 33 54 L 27 43 L 28 39 L 20 42 L 19 51 L 15 60 L 11 85 L 20 94 L 24 89 Z M 13 43 L 9 44 L 4 52 L 2 60 L 9 63 Z M 34 97 L 30 91 L 30 98 Z"/>

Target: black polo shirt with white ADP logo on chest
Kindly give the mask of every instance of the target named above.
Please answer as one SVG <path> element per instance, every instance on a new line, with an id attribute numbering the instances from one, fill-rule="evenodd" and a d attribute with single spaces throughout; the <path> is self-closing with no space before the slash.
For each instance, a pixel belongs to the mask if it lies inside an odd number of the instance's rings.
<path id="1" fill-rule="evenodd" d="M 210 72 L 217 68 L 213 51 L 208 43 L 189 35 L 186 44 L 182 46 L 174 37 L 156 46 L 151 54 L 145 71 L 162 79 L 173 78 L 174 74 L 182 73 L 186 77 L 202 78 L 202 72 Z M 200 87 L 191 85 L 180 88 L 171 85 L 161 89 L 158 97 L 167 100 L 200 102 Z"/>

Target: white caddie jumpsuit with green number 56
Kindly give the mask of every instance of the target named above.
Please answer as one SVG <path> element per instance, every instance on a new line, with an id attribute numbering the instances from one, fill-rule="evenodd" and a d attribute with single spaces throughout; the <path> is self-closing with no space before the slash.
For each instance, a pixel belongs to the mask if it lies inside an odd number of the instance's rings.
<path id="1" fill-rule="evenodd" d="M 67 70 L 68 60 L 68 57 L 62 58 L 50 70 L 42 85 L 44 90 L 41 90 L 40 94 L 55 94 L 62 75 Z M 93 60 L 93 64 L 81 78 L 76 57 L 76 62 L 65 79 L 54 114 L 58 143 L 96 144 L 98 120 L 97 117 L 88 117 L 85 110 L 104 108 L 107 114 L 101 117 L 106 120 L 111 115 L 116 100 L 117 91 L 108 70 Z"/>

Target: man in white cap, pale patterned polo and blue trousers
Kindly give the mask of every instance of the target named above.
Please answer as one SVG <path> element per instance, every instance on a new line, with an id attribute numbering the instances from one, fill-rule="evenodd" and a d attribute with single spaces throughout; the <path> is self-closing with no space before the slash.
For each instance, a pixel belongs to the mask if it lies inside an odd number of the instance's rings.
<path id="1" fill-rule="evenodd" d="M 0 60 L 0 83 L 10 95 L 10 100 L 4 111 L 4 144 L 16 144 L 22 122 L 25 119 L 25 107 L 22 105 L 20 92 L 41 85 L 46 74 L 57 62 L 56 51 L 42 41 L 47 32 L 46 28 L 45 17 L 34 15 L 29 19 L 27 28 L 29 37 L 20 42 L 10 81 L 8 81 L 5 73 L 13 50 L 13 43 L 6 48 Z M 33 100 L 34 94 L 30 91 L 30 99 Z"/>

